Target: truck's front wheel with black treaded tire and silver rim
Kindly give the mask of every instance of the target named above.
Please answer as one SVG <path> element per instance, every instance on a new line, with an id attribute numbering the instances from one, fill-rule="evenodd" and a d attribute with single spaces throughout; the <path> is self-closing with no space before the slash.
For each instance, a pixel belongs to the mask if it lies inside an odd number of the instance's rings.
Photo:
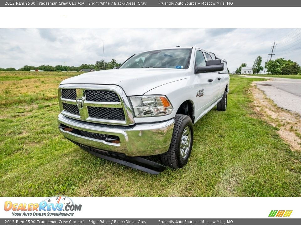
<path id="1" fill-rule="evenodd" d="M 172 133 L 172 141 L 161 161 L 172 168 L 181 168 L 188 162 L 193 145 L 193 123 L 189 116 L 177 114 Z"/>

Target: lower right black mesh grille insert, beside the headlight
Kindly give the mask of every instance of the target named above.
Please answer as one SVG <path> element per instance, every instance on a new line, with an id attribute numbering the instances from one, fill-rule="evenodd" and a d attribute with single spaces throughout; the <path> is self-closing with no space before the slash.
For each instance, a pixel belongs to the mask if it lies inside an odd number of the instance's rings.
<path id="1" fill-rule="evenodd" d="M 125 120 L 122 108 L 101 108 L 88 106 L 89 116 L 98 119 Z"/>

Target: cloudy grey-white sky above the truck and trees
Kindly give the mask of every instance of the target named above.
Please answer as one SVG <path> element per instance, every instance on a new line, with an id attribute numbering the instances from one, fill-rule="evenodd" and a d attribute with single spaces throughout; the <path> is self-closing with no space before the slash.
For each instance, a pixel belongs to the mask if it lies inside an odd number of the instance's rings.
<path id="1" fill-rule="evenodd" d="M 228 62 L 230 72 L 257 56 L 292 59 L 301 65 L 301 29 L 0 29 L 0 68 L 24 65 L 94 64 L 115 58 L 122 63 L 146 50 L 197 46 Z"/>

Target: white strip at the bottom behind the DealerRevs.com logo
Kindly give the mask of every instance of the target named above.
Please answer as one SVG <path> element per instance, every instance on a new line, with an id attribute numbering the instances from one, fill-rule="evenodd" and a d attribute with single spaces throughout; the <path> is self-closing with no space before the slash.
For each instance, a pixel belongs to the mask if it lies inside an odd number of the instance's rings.
<path id="1" fill-rule="evenodd" d="M 271 210 L 293 210 L 290 217 L 301 218 L 298 197 L 70 197 L 82 210 L 70 218 L 276 218 Z M 13 217 L 4 211 L 4 202 L 39 203 L 46 197 L 1 197 L 2 218 Z M 28 212 L 28 211 L 27 211 Z M 54 211 L 51 211 L 54 212 Z M 58 212 L 58 211 L 55 211 Z M 61 211 L 62 212 L 62 211 Z M 66 211 L 65 211 L 66 212 Z M 63 217 L 30 217 L 63 218 Z M 277 219 L 276 218 L 276 219 Z"/>

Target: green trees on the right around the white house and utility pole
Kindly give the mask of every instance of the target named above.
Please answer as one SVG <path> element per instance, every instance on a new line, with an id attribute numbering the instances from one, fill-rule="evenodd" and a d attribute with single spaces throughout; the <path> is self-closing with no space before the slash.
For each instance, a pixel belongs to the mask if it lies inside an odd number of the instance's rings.
<path id="1" fill-rule="evenodd" d="M 263 70 L 261 66 L 262 58 L 258 56 L 252 66 L 253 74 L 258 74 Z M 241 73 L 241 68 L 247 67 L 246 63 L 242 63 L 239 68 L 235 70 L 235 73 Z M 278 58 L 275 60 L 270 60 L 265 63 L 264 68 L 267 69 L 267 73 L 271 74 L 301 74 L 301 67 L 297 62 L 292 60 L 285 60 L 284 58 Z"/>

